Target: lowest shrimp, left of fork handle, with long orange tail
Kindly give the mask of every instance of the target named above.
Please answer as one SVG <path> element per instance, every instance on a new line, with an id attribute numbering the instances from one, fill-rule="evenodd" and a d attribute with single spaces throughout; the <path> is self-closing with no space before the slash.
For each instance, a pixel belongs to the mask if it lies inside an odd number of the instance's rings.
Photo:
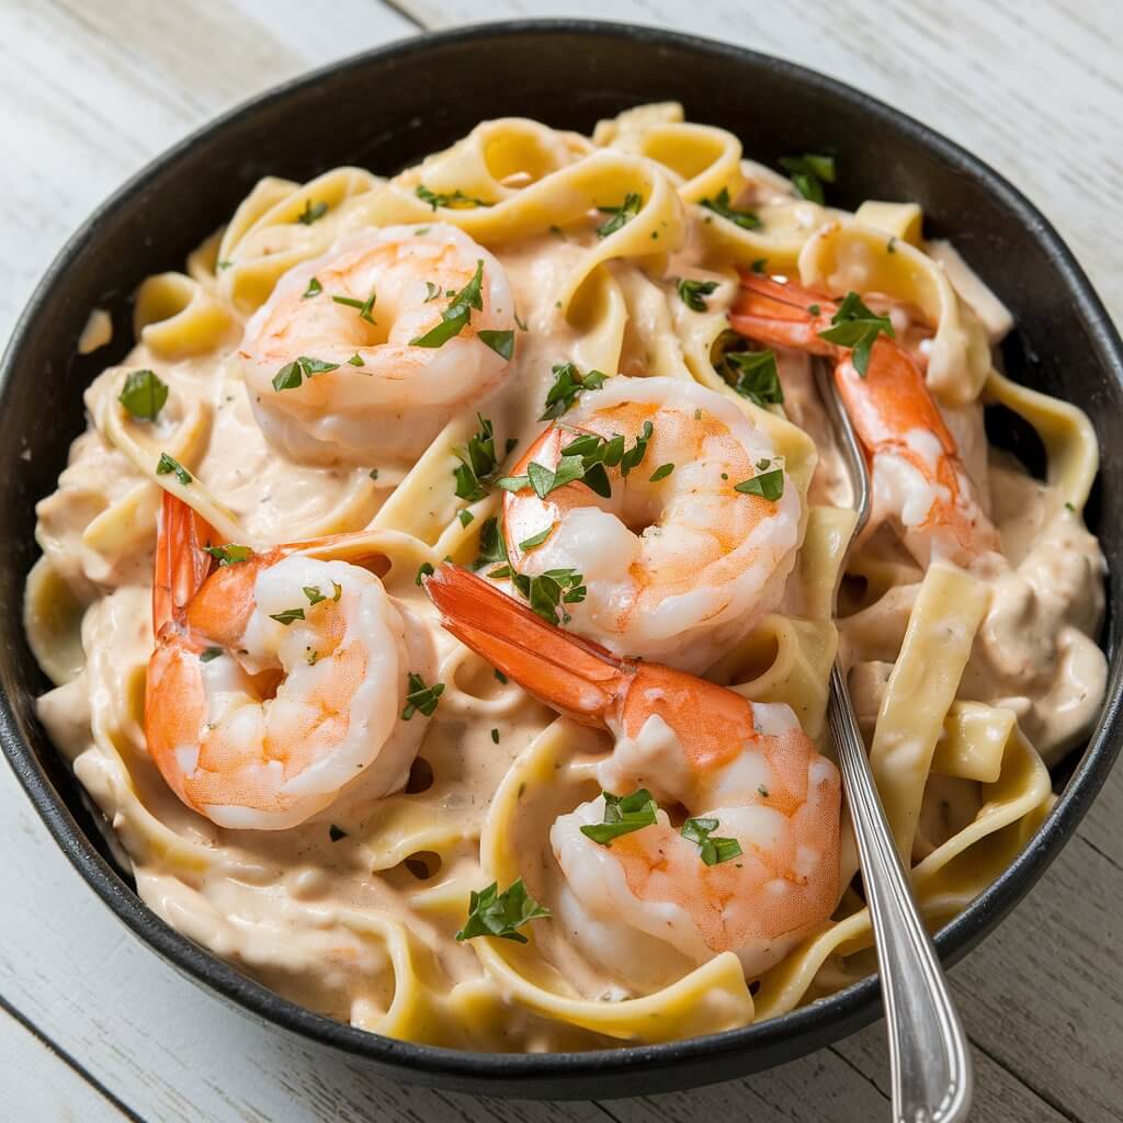
<path id="1" fill-rule="evenodd" d="M 711 838 L 740 848 L 707 865 L 663 810 L 603 846 L 581 830 L 605 819 L 603 795 L 562 815 L 550 831 L 567 886 L 558 913 L 592 958 L 632 964 L 637 942 L 695 964 L 733 951 L 754 977 L 830 916 L 839 774 L 788 706 L 615 658 L 455 566 L 427 588 L 457 639 L 548 705 L 613 734 L 597 774 L 604 792 L 646 787 L 695 820 L 715 819 Z"/>

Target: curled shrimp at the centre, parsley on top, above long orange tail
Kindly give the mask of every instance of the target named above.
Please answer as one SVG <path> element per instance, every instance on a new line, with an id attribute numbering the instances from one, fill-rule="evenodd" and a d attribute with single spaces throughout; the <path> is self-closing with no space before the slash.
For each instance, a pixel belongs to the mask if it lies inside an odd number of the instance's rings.
<path id="1" fill-rule="evenodd" d="M 641 463 L 627 476 L 619 458 L 608 468 L 608 497 L 584 482 L 544 499 L 529 486 L 509 492 L 508 555 L 524 575 L 582 575 L 585 599 L 566 604 L 577 633 L 618 655 L 701 669 L 776 605 L 795 564 L 802 503 L 768 435 L 696 383 L 617 377 L 585 393 L 512 475 L 556 468 L 582 436 L 619 435 L 633 454 L 648 430 Z M 755 476 L 764 494 L 736 490 Z"/>

